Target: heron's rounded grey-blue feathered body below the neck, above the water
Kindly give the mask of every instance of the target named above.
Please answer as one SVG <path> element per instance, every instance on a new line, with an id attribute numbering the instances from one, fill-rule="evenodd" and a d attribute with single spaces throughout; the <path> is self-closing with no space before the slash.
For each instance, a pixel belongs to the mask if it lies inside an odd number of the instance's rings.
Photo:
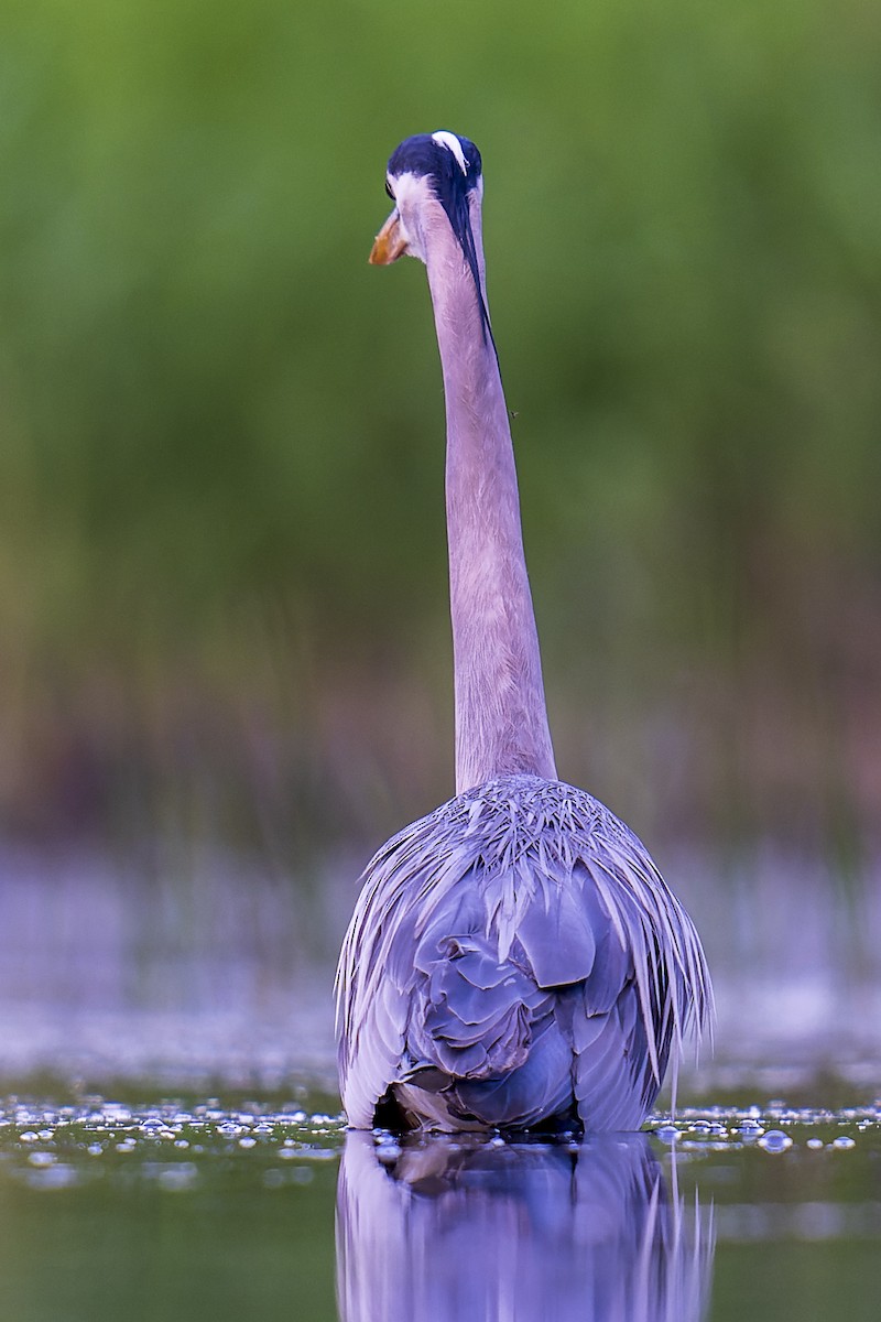
<path id="1" fill-rule="evenodd" d="M 370 1128 L 639 1128 L 709 1026 L 693 925 L 637 837 L 560 781 L 506 776 L 390 839 L 337 970 L 343 1107 Z"/>

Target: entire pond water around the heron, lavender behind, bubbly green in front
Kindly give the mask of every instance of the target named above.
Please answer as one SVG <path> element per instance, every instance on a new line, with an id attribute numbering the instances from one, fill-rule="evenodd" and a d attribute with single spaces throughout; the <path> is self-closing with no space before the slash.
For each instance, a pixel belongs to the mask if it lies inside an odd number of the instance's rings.
<path id="1" fill-rule="evenodd" d="M 395 1142 L 334 1093 L 359 862 L 0 851 L 3 1318 L 881 1318 L 881 887 L 683 857 L 719 1029 L 675 1122 Z"/>

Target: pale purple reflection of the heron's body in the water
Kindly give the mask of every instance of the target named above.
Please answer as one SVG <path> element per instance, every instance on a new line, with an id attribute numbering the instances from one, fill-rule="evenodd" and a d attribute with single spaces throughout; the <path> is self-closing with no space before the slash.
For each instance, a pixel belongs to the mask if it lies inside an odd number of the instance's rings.
<path id="1" fill-rule="evenodd" d="M 343 1322 L 697 1322 L 712 1255 L 645 1134 L 346 1137 Z"/>

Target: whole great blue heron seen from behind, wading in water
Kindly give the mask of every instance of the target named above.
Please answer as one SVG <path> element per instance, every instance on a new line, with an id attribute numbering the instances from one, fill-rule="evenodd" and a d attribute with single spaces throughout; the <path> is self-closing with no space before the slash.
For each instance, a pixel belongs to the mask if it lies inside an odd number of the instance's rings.
<path id="1" fill-rule="evenodd" d="M 490 327 L 481 155 L 392 153 L 370 260 L 428 267 L 446 399 L 456 797 L 363 874 L 337 970 L 349 1124 L 637 1129 L 712 1017 L 691 919 L 637 837 L 557 779 Z"/>

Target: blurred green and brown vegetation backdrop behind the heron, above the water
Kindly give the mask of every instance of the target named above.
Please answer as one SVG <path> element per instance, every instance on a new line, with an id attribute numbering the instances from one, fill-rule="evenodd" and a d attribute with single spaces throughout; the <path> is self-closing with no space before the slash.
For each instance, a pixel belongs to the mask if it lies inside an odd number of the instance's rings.
<path id="1" fill-rule="evenodd" d="M 4 0 L 0 830 L 292 867 L 452 791 L 444 419 L 384 163 L 473 137 L 559 765 L 881 821 L 865 0 Z M 874 833 L 874 837 L 873 837 Z"/>

